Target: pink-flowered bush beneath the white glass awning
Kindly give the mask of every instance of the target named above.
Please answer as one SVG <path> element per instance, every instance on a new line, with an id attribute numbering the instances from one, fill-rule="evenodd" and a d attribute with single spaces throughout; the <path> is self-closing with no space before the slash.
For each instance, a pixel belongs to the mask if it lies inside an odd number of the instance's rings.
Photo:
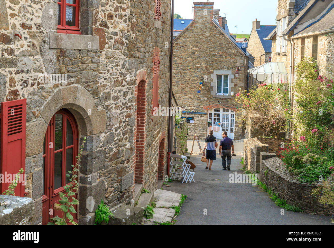
<path id="1" fill-rule="evenodd" d="M 236 94 L 236 101 L 243 106 L 238 121 L 251 126 L 252 132 L 263 130 L 263 136 L 280 136 L 287 130 L 288 98 L 288 91 L 283 87 L 272 90 L 266 83 L 253 87 L 249 93 L 241 91 Z"/>

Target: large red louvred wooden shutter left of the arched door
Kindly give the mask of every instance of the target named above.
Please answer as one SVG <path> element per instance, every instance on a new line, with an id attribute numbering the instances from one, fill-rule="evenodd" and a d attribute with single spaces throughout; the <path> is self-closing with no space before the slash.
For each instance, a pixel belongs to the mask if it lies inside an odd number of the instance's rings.
<path id="1" fill-rule="evenodd" d="M 0 135 L 0 173 L 18 173 L 25 170 L 25 127 L 27 100 L 21 99 L 1 103 L 1 135 Z M 25 173 L 25 171 L 24 171 Z M 24 196 L 24 173 L 15 189 L 15 196 Z M 0 183 L 0 194 L 8 189 L 10 181 Z"/>

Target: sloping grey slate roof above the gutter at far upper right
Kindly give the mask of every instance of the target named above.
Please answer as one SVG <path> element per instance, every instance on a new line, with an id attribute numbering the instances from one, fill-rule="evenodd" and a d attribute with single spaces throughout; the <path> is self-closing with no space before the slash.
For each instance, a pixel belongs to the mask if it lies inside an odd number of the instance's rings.
<path id="1" fill-rule="evenodd" d="M 313 32 L 326 31 L 334 28 L 334 4 L 319 19 L 309 24 L 295 35 L 305 35 Z"/>

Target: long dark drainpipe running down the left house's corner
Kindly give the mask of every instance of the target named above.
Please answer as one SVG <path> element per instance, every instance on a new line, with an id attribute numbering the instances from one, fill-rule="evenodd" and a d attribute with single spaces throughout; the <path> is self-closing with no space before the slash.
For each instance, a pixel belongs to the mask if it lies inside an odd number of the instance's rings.
<path id="1" fill-rule="evenodd" d="M 174 38 L 174 0 L 172 0 L 172 17 L 170 31 L 170 66 L 169 66 L 169 109 L 172 107 L 172 80 L 173 80 L 173 38 Z M 169 164 L 171 152 L 171 136 L 172 136 L 172 117 L 168 115 L 168 151 L 167 151 L 167 175 L 169 177 Z"/>

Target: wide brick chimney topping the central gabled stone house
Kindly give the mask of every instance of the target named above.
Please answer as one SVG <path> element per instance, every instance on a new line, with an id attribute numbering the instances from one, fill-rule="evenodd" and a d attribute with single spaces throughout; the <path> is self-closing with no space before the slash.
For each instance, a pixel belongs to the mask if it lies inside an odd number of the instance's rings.
<path id="1" fill-rule="evenodd" d="M 211 23 L 213 19 L 213 2 L 194 2 L 194 21 L 198 23 Z"/>

